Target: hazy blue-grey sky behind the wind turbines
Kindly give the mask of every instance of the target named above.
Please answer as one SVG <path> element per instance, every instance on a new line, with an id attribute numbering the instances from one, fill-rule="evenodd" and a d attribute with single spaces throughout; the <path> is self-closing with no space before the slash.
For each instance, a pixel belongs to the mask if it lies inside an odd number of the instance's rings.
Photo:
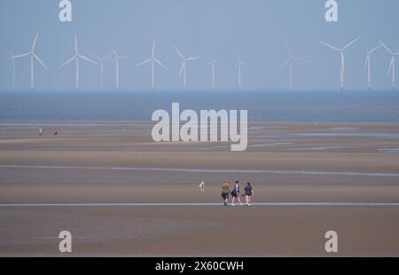
<path id="1" fill-rule="evenodd" d="M 362 40 L 346 53 L 348 89 L 364 89 L 365 51 L 378 44 L 399 48 L 399 1 L 340 0 L 339 22 L 325 21 L 325 0 L 72 0 L 73 21 L 59 21 L 59 0 L 2 0 L 0 2 L 0 90 L 12 88 L 9 53 L 29 51 L 36 30 L 40 37 L 36 53 L 49 67 L 35 63 L 36 90 L 73 90 L 74 65 L 59 66 L 74 54 L 74 32 L 80 51 L 105 55 L 114 47 L 129 59 L 121 60 L 121 89 L 150 87 L 151 67 L 135 67 L 150 58 L 153 38 L 156 57 L 170 68 L 157 67 L 156 89 L 178 90 L 181 66 L 173 45 L 190 56 L 205 59 L 188 65 L 188 89 L 211 88 L 211 68 L 217 59 L 218 89 L 237 86 L 234 67 L 238 54 L 245 89 L 286 89 L 288 71 L 276 72 L 287 59 L 285 40 L 293 55 L 312 60 L 293 67 L 294 86 L 299 89 L 337 89 L 340 86 L 340 54 L 318 41 L 343 47 L 358 35 Z M 390 87 L 387 51 L 372 57 L 375 89 Z M 399 61 L 399 57 L 398 57 Z M 399 63 L 398 63 L 399 64 Z M 19 59 L 17 90 L 29 89 L 29 59 Z M 99 68 L 81 62 L 81 89 L 99 88 Z M 106 88 L 114 87 L 112 60 L 106 62 Z"/>

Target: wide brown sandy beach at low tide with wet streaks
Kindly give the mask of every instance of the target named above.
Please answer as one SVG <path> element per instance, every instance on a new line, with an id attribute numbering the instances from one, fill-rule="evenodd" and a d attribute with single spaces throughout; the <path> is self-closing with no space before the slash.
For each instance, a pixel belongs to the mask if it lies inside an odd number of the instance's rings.
<path id="1" fill-rule="evenodd" d="M 63 230 L 72 255 L 323 256 L 329 230 L 334 255 L 399 255 L 399 123 L 250 122 L 241 153 L 152 125 L 0 122 L 0 255 L 61 255 Z M 223 207 L 223 179 L 280 204 Z"/>

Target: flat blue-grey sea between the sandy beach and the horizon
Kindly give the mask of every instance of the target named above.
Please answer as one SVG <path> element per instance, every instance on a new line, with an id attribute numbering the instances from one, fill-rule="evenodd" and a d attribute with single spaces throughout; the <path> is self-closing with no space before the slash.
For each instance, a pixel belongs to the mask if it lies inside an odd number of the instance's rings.
<path id="1" fill-rule="evenodd" d="M 247 110 L 249 121 L 399 122 L 399 90 L 2 91 L 0 121 L 151 121 L 174 102 Z"/>

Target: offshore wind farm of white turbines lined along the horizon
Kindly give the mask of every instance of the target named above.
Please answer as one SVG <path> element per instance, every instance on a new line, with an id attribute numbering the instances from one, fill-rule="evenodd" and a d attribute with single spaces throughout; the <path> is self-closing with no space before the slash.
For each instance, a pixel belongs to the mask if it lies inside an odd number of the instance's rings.
<path id="1" fill-rule="evenodd" d="M 344 47 L 339 48 L 336 46 L 333 46 L 330 43 L 325 43 L 325 42 L 319 42 L 325 47 L 333 50 L 333 51 L 338 51 L 340 53 L 340 90 L 344 90 L 346 88 L 346 78 L 347 78 L 347 65 L 346 65 L 346 51 L 350 47 L 353 46 L 356 42 L 358 42 L 362 36 L 358 36 L 356 39 L 352 40 L 351 42 L 347 43 Z M 35 53 L 35 45 L 37 43 L 38 39 L 38 32 L 36 33 L 35 40 L 32 44 L 31 50 L 25 53 L 21 53 L 18 55 L 13 55 L 11 54 L 11 59 L 12 62 L 12 87 L 15 88 L 16 86 L 16 59 L 24 58 L 24 57 L 29 57 L 30 58 L 30 90 L 34 90 L 35 88 L 35 67 L 34 67 L 34 61 L 36 60 L 39 62 L 42 67 L 44 67 L 46 70 L 48 68 L 44 65 L 42 59 L 39 58 L 39 56 Z M 288 43 L 285 43 L 286 45 L 286 53 L 288 55 L 286 62 L 284 62 L 280 67 L 278 67 L 278 71 L 282 71 L 286 69 L 288 73 L 288 89 L 292 90 L 293 89 L 293 74 L 294 74 L 294 64 L 295 63 L 307 63 L 311 65 L 310 67 L 314 67 L 312 62 L 309 59 L 303 59 L 301 57 L 293 56 L 291 47 Z M 180 59 L 180 66 L 179 66 L 179 71 L 178 71 L 178 76 L 181 78 L 183 82 L 183 88 L 184 90 L 187 89 L 187 83 L 188 83 L 188 64 L 192 63 L 192 61 L 200 61 L 200 59 L 206 59 L 203 56 L 197 56 L 197 57 L 185 57 L 184 54 L 176 47 L 173 46 L 173 51 L 177 54 L 177 56 Z M 365 69 L 365 75 L 366 75 L 366 83 L 367 83 L 367 90 L 372 89 L 372 56 L 374 55 L 375 51 L 378 51 L 380 48 L 384 48 L 387 53 L 390 55 L 390 63 L 389 67 L 387 70 L 387 74 L 391 76 L 391 85 L 392 88 L 395 90 L 395 58 L 396 56 L 399 55 L 399 51 L 393 51 L 390 48 L 387 47 L 385 43 L 383 43 L 379 39 L 379 45 L 375 46 L 372 48 L 372 50 L 366 51 L 366 57 L 365 57 L 365 64 L 364 64 L 364 69 Z M 59 68 L 66 67 L 70 63 L 74 61 L 75 63 L 75 90 L 79 90 L 79 80 L 80 80 L 80 70 L 79 70 L 79 63 L 80 60 L 90 62 L 92 64 L 98 64 L 99 65 L 99 87 L 100 90 L 104 90 L 105 86 L 105 61 L 106 59 L 110 58 L 113 56 L 112 62 L 114 66 L 114 83 L 115 83 L 115 90 L 120 89 L 120 61 L 121 59 L 126 59 L 126 56 L 121 56 L 119 53 L 115 50 L 112 52 L 108 53 L 107 55 L 103 57 L 98 57 L 97 55 L 90 54 L 94 59 L 98 60 L 98 63 L 93 61 L 92 59 L 84 56 L 81 54 L 78 48 L 78 42 L 77 42 L 77 37 L 74 35 L 74 56 L 70 59 L 67 59 L 65 63 L 63 63 Z M 258 62 L 262 62 L 262 60 L 258 60 Z M 167 66 L 164 65 L 160 61 L 160 59 L 157 59 L 155 57 L 155 39 L 153 40 L 153 45 L 152 45 L 152 50 L 151 50 L 151 57 L 149 59 L 145 59 L 144 61 L 137 63 L 135 67 L 142 67 L 145 64 L 150 64 L 151 67 L 151 89 L 153 90 L 155 88 L 155 72 L 156 72 L 156 67 L 161 67 L 165 70 L 169 70 Z M 213 90 L 216 89 L 216 71 L 217 68 L 223 68 L 216 59 L 211 59 L 209 62 L 205 64 L 207 67 L 210 67 L 211 69 L 211 87 Z M 234 68 L 236 69 L 236 75 L 237 75 L 237 81 L 236 85 L 239 89 L 242 88 L 242 71 L 243 68 L 246 67 L 246 63 L 244 63 L 240 57 L 235 61 Z M 303 73 L 302 73 L 303 75 Z M 198 76 L 198 74 L 196 75 Z M 198 83 L 198 81 L 197 81 Z M 234 83 L 234 81 L 231 80 L 231 83 Z M 12 89 L 14 89 L 12 88 Z M 190 87 L 190 89 L 195 90 L 195 87 Z M 302 88 L 303 89 L 303 88 Z M 264 88 L 264 90 L 268 90 L 267 88 Z"/>

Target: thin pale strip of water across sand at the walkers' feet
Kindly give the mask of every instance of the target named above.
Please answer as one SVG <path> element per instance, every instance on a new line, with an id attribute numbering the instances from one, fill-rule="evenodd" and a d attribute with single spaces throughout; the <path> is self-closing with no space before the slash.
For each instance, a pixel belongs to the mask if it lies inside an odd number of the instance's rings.
<path id="1" fill-rule="evenodd" d="M 243 204 L 245 205 L 245 204 Z M 259 207 L 399 207 L 399 202 L 254 202 Z M 47 207 L 214 207 L 217 202 L 78 202 L 78 203 L 1 203 L 0 208 Z M 230 204 L 229 204 L 230 206 Z M 239 204 L 236 204 L 239 206 Z"/>

